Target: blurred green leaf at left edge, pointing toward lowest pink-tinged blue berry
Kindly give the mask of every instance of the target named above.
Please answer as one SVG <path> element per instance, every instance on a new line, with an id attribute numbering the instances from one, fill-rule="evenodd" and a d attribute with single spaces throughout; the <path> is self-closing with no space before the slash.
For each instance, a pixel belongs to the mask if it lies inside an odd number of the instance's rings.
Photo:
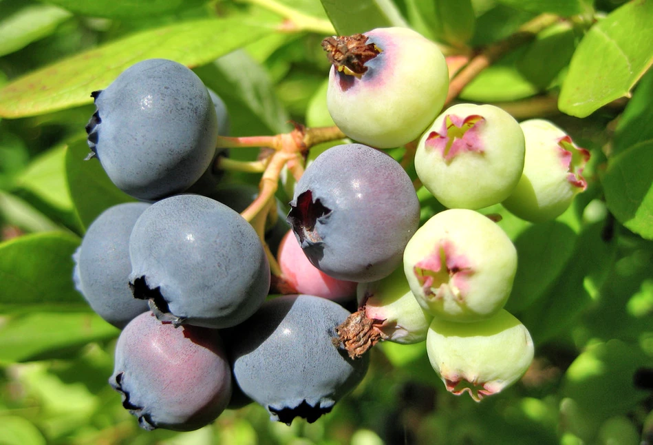
<path id="1" fill-rule="evenodd" d="M 0 327 L 0 363 L 54 358 L 118 333 L 95 313 L 30 313 Z"/>

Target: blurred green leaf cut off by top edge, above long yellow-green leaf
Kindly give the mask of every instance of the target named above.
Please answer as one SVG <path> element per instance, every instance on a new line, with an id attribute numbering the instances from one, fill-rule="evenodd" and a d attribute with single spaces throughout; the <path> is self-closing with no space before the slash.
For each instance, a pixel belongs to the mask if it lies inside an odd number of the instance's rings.
<path id="1" fill-rule="evenodd" d="M 90 15 L 93 17 L 122 17 L 125 19 L 135 17 L 149 17 L 152 15 L 167 14 L 204 3 L 204 0 L 42 0 L 46 3 L 61 6 L 76 14 Z"/>

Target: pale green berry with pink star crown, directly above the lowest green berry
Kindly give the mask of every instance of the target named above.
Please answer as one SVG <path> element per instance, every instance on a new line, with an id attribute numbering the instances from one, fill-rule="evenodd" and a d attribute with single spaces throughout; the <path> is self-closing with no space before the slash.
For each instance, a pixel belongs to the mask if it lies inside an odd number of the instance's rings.
<path id="1" fill-rule="evenodd" d="M 517 249 L 492 220 L 468 209 L 432 216 L 404 251 L 418 303 L 442 320 L 476 322 L 499 311 L 517 271 Z"/>

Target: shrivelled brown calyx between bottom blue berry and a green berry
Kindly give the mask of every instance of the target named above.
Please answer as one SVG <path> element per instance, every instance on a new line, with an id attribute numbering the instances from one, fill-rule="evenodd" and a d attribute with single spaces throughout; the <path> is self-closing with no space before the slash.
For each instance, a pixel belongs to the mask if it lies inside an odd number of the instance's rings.
<path id="1" fill-rule="evenodd" d="M 338 340 L 352 360 L 361 358 L 372 346 L 387 338 L 381 331 L 384 321 L 367 318 L 365 307 L 362 307 L 336 327 Z"/>

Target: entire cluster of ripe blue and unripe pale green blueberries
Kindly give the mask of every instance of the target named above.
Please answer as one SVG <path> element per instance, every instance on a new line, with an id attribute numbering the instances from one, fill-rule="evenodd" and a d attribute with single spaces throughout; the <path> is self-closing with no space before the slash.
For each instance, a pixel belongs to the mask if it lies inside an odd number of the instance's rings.
<path id="1" fill-rule="evenodd" d="M 194 193 L 215 183 L 229 123 L 191 70 L 142 61 L 92 94 L 90 157 L 142 202 L 94 221 L 73 276 L 123 329 L 109 382 L 143 428 L 188 431 L 251 401 L 272 420 L 313 422 L 363 380 L 381 341 L 426 342 L 447 389 L 475 400 L 533 360 L 528 330 L 503 309 L 517 251 L 477 210 L 559 216 L 586 187 L 588 152 L 553 124 L 520 124 L 491 105 L 442 112 L 447 63 L 414 31 L 330 37 L 323 48 L 328 110 L 359 143 L 317 156 L 265 233 L 239 214 L 257 189 Z M 410 162 L 381 151 L 401 145 L 414 152 L 415 180 Z M 420 227 L 422 185 L 449 209 Z M 350 313 L 339 302 L 354 296 Z"/>

